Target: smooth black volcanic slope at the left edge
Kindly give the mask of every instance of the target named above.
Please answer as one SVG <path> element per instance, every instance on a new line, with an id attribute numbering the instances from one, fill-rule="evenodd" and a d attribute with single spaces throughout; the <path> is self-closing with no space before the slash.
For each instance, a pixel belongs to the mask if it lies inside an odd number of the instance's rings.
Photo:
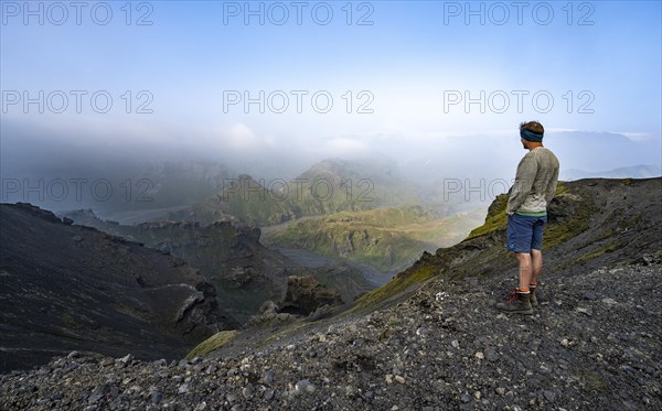
<path id="1" fill-rule="evenodd" d="M 215 290 L 157 250 L 0 205 L 0 369 L 72 349 L 173 358 L 232 326 Z"/>

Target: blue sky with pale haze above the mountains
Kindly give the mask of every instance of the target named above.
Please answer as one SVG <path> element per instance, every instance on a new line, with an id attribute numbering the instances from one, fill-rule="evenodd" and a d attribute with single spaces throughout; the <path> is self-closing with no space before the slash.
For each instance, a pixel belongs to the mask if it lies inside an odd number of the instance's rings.
<path id="1" fill-rule="evenodd" d="M 525 1 L 521 9 L 465 1 L 136 1 L 130 15 L 127 1 L 83 3 L 77 24 L 68 2 L 32 2 L 36 14 L 30 14 L 22 1 L 2 1 L 4 143 L 35 128 L 61 147 L 158 144 L 218 160 L 264 150 L 311 161 L 372 151 L 415 158 L 417 148 L 441 150 L 451 138 L 471 144 L 503 138 L 516 147 L 516 125 L 537 119 L 548 132 L 620 133 L 642 144 L 644 162 L 660 159 L 651 155 L 661 136 L 659 1 Z M 261 8 L 265 24 L 259 15 L 246 24 L 247 8 Z M 151 24 L 137 24 L 140 18 Z M 372 24 L 357 24 L 362 18 Z M 38 105 L 8 102 L 40 90 L 44 100 L 54 90 L 66 94 L 67 109 L 55 113 L 46 104 L 41 113 Z M 72 90 L 87 93 L 82 112 Z M 90 106 L 99 90 L 113 99 L 106 113 Z M 264 113 L 242 101 L 224 112 L 228 93 L 244 99 L 260 91 Z M 289 106 L 275 112 L 282 95 Z M 317 112 L 328 108 L 328 96 L 332 107 Z M 482 111 L 478 102 L 465 105 L 481 96 Z M 140 104 L 152 112 L 137 113 Z M 362 104 L 369 112 L 357 112 Z M 631 164 L 613 167 L 623 165 Z"/>

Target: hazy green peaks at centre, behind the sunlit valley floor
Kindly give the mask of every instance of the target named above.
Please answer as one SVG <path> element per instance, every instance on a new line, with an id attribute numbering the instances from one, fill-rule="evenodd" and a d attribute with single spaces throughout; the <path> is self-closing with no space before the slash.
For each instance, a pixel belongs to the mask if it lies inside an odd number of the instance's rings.
<path id="1" fill-rule="evenodd" d="M 172 212 L 171 220 L 211 224 L 239 220 L 270 226 L 305 216 L 420 204 L 416 187 L 394 162 L 324 160 L 296 179 L 227 182 L 224 190 L 194 206 Z"/>

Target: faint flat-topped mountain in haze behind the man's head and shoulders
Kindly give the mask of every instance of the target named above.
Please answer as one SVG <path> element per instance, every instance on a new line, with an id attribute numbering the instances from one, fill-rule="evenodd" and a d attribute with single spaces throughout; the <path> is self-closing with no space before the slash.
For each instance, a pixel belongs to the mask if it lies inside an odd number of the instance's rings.
<path id="1" fill-rule="evenodd" d="M 636 141 L 615 132 L 547 131 L 543 142 L 558 156 L 562 170 L 612 170 L 660 164 L 661 141 L 659 136 Z M 510 182 L 525 153 L 516 125 L 506 136 L 453 136 L 418 147 L 419 154 L 403 159 L 401 169 L 424 186 L 444 180 L 465 183 L 468 179 L 469 184 L 463 186 L 473 187 L 480 186 L 481 179 L 487 185 L 501 179 Z"/>

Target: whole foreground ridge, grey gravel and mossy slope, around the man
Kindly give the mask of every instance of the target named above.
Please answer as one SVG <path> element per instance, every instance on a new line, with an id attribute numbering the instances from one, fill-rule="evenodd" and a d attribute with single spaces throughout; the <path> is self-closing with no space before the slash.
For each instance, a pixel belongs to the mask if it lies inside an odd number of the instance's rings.
<path id="1" fill-rule="evenodd" d="M 493 307 L 516 283 L 501 196 L 465 241 L 425 253 L 353 311 L 242 331 L 179 363 L 56 358 L 0 376 L 0 405 L 660 409 L 660 194 L 662 179 L 562 184 L 531 316 Z"/>

